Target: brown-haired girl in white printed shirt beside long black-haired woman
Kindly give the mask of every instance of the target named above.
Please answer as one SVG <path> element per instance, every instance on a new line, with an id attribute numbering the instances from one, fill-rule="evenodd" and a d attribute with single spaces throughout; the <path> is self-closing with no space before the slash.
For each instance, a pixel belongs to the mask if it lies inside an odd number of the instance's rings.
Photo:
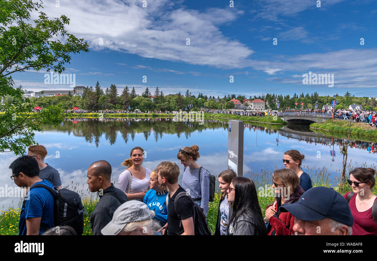
<path id="1" fill-rule="evenodd" d="M 225 235 L 227 232 L 229 217 L 231 216 L 227 190 L 232 182 L 232 179 L 235 177 L 237 177 L 237 174 L 231 169 L 227 169 L 219 174 L 218 179 L 219 188 L 221 189 L 221 196 L 219 200 L 219 210 L 217 212 L 217 222 L 214 235 Z"/>

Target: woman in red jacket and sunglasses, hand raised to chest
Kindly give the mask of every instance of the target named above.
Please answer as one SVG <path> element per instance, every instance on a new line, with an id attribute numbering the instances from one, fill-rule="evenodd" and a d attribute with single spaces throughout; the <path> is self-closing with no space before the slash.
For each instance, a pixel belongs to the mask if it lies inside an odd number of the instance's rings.
<path id="1" fill-rule="evenodd" d="M 272 187 L 275 189 L 274 204 L 268 205 L 265 216 L 268 218 L 268 235 L 293 235 L 294 217 L 290 212 L 281 212 L 280 206 L 295 203 L 304 190 L 293 169 L 277 169 L 272 174 Z"/>

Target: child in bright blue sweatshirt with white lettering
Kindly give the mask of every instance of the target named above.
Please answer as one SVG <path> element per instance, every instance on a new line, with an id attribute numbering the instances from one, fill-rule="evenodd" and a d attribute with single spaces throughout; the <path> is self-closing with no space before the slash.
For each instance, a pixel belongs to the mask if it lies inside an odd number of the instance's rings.
<path id="1" fill-rule="evenodd" d="M 147 204 L 150 210 L 155 211 L 153 220 L 158 221 L 161 226 L 167 223 L 167 206 L 166 196 L 167 189 L 159 185 L 156 170 L 150 172 L 149 191 L 146 192 L 143 202 Z"/>

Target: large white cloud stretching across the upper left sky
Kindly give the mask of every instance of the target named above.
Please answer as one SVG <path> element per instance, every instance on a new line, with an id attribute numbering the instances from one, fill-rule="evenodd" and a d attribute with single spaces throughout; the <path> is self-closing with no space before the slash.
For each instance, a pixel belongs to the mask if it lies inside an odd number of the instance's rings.
<path id="1" fill-rule="evenodd" d="M 84 38 L 93 50 L 221 68 L 240 68 L 253 53 L 245 44 L 225 37 L 218 28 L 235 21 L 244 13 L 242 10 L 198 11 L 170 0 L 148 2 L 147 8 L 141 5 L 136 0 L 67 0 L 60 8 L 55 2 L 46 2 L 44 12 L 50 18 L 67 15 L 67 30 Z M 186 45 L 187 38 L 190 45 Z"/>

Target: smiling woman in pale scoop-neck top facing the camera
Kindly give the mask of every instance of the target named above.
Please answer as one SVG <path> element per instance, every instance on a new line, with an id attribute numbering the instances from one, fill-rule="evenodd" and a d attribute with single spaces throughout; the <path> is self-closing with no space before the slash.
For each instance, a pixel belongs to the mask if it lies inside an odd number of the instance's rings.
<path id="1" fill-rule="evenodd" d="M 128 168 L 118 178 L 118 189 L 126 193 L 129 200 L 143 201 L 149 189 L 150 169 L 141 166 L 144 160 L 143 148 L 131 150 L 130 158 L 124 160 L 123 166 Z"/>

